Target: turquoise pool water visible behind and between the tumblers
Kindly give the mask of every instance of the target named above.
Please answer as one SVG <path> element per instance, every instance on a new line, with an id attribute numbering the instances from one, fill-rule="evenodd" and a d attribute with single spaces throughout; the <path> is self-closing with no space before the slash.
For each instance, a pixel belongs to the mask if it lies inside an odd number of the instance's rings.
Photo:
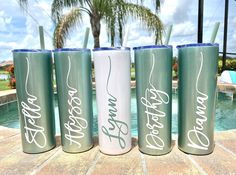
<path id="1" fill-rule="evenodd" d="M 59 112 L 57 104 L 57 96 L 55 95 L 55 121 L 56 121 L 56 133 L 60 134 L 59 126 Z M 178 116 L 178 98 L 177 94 L 172 95 L 172 133 L 178 132 L 177 116 Z M 232 94 L 218 93 L 216 103 L 216 118 L 215 118 L 215 130 L 224 131 L 229 129 L 236 129 L 236 101 L 232 100 Z M 19 128 L 17 103 L 12 102 L 3 106 L 0 106 L 0 125 L 9 128 Z M 95 93 L 93 94 L 93 132 L 97 135 L 97 107 Z M 135 90 L 131 91 L 131 131 L 132 136 L 137 136 L 137 106 L 135 98 Z"/>

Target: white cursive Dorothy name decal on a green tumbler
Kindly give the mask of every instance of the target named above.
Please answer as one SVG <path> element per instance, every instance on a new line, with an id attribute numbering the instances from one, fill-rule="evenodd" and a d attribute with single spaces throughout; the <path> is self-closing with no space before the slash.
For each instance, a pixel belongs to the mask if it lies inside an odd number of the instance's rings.
<path id="1" fill-rule="evenodd" d="M 159 136 L 160 129 L 164 128 L 163 123 L 159 121 L 160 118 L 166 117 L 166 113 L 158 110 L 158 107 L 169 103 L 169 95 L 161 90 L 157 90 L 151 82 L 153 69 L 155 66 L 155 55 L 152 55 L 152 68 L 149 74 L 149 87 L 145 90 L 145 96 L 141 97 L 141 103 L 145 106 L 145 114 L 147 118 L 146 127 L 149 133 L 146 134 L 146 147 L 154 150 L 163 150 L 165 143 Z"/>

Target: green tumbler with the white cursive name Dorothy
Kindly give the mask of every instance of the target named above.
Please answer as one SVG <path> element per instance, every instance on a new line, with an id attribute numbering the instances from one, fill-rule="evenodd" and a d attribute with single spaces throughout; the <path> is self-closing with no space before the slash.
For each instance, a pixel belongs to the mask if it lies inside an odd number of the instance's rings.
<path id="1" fill-rule="evenodd" d="M 141 152 L 171 151 L 172 46 L 135 47 L 138 145 Z"/>

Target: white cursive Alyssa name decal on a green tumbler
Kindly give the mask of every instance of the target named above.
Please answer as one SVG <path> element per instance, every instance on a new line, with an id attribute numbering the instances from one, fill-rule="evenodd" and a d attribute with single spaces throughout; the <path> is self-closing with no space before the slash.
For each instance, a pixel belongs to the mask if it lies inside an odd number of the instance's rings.
<path id="1" fill-rule="evenodd" d="M 87 120 L 84 119 L 82 116 L 82 109 L 81 106 L 81 100 L 76 96 L 77 90 L 69 85 L 69 76 L 70 76 L 70 70 L 71 70 L 71 60 L 70 57 L 68 57 L 68 72 L 66 77 L 66 85 L 68 88 L 68 113 L 69 113 L 69 120 L 64 123 L 64 127 L 67 129 L 68 134 L 65 134 L 65 138 L 70 141 L 70 145 L 73 143 L 76 144 L 79 148 L 81 147 L 81 143 L 79 142 L 79 139 L 84 137 L 83 130 L 88 127 Z"/>

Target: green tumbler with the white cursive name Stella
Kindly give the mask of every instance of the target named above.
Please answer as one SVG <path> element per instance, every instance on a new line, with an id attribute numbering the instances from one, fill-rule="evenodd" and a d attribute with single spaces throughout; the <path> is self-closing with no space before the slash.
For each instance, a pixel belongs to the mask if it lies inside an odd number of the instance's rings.
<path id="1" fill-rule="evenodd" d="M 48 151 L 56 145 L 51 51 L 20 49 L 12 52 L 23 151 Z"/>

